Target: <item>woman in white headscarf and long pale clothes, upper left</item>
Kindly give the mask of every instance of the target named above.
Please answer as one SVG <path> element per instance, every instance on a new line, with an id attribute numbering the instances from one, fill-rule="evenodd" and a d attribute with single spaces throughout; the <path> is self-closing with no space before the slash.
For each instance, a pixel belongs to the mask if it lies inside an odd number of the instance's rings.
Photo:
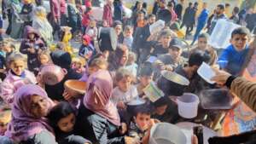
<path id="1" fill-rule="evenodd" d="M 44 7 L 37 7 L 35 9 L 32 27 L 38 30 L 38 33 L 44 39 L 47 46 L 53 43 L 53 29 L 46 18 L 46 10 Z"/>

